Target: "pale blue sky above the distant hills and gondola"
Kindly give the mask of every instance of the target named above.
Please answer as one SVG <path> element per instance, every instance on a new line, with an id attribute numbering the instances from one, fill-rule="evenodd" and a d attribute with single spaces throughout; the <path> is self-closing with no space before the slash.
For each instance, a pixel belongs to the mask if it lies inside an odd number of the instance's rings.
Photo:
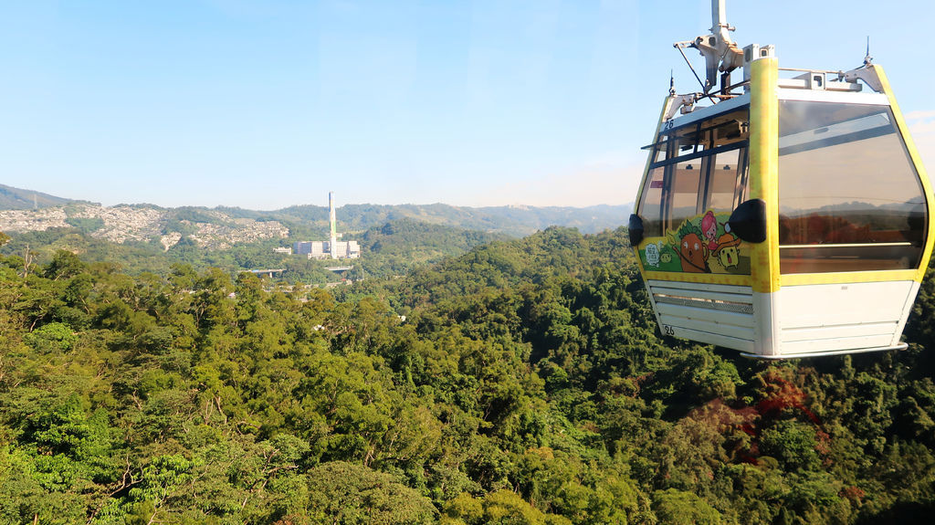
<path id="1" fill-rule="evenodd" d="M 710 8 L 5 0 L 0 182 L 108 206 L 626 204 L 669 70 L 697 91 L 672 42 Z M 856 67 L 870 35 L 930 166 L 933 12 L 727 2 L 741 46 L 785 67 Z"/>

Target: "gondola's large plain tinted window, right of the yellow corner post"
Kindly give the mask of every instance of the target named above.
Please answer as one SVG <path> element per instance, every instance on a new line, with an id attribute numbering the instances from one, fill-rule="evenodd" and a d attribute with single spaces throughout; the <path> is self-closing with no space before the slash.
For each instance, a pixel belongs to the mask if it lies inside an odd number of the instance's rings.
<path id="1" fill-rule="evenodd" d="M 783 101 L 784 274 L 918 267 L 926 197 L 887 106 Z"/>

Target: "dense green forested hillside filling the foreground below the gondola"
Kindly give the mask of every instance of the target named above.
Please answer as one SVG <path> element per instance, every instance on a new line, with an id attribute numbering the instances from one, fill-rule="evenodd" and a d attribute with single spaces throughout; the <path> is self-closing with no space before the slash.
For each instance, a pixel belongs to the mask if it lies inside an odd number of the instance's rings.
<path id="1" fill-rule="evenodd" d="M 927 523 L 933 311 L 741 360 L 656 333 L 622 229 L 337 295 L 7 255 L 0 523 Z"/>

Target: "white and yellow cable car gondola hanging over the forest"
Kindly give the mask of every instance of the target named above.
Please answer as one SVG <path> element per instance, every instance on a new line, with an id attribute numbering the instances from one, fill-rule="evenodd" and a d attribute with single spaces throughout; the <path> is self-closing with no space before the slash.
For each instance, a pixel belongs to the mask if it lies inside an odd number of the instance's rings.
<path id="1" fill-rule="evenodd" d="M 669 90 L 629 221 L 661 332 L 762 359 L 906 348 L 935 204 L 883 68 L 780 68 L 724 12 L 676 44 L 707 81 Z"/>

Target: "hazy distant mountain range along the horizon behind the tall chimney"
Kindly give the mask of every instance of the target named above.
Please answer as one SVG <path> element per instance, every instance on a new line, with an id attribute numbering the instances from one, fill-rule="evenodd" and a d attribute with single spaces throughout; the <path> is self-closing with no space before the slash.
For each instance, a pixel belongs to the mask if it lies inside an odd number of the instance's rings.
<path id="1" fill-rule="evenodd" d="M 38 209 L 34 210 L 34 207 Z M 626 223 L 632 207 L 345 205 L 338 207 L 337 215 L 338 231 L 345 233 L 360 233 L 389 221 L 407 219 L 519 237 L 549 226 L 573 227 L 584 234 L 617 228 Z M 165 235 L 185 234 L 188 233 L 186 230 L 213 232 L 218 230 L 214 226 L 232 231 L 273 227 L 272 224 L 264 225 L 265 222 L 279 222 L 288 229 L 289 238 L 322 236 L 328 230 L 328 208 L 309 205 L 257 211 L 226 206 L 100 206 L 0 185 L 0 231 L 7 233 L 44 231 L 50 227 L 70 225 L 80 226 L 88 234 L 96 232 L 101 237 L 114 240 L 122 237 L 156 240 L 162 235 L 165 243 Z M 140 232 L 129 232 L 134 228 Z M 123 229 L 128 232 L 122 232 Z M 276 233 L 270 232 L 272 236 L 286 236 L 280 234 L 279 225 L 273 229 Z M 233 238 L 229 241 L 237 243 Z"/>

